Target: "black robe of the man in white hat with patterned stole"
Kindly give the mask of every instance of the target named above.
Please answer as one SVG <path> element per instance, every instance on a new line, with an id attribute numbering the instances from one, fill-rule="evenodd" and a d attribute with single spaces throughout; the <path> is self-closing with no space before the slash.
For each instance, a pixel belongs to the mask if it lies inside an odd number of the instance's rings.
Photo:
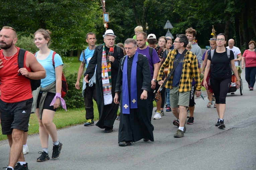
<path id="1" fill-rule="evenodd" d="M 98 49 L 101 47 L 100 49 Z M 114 62 L 111 63 L 111 85 L 112 85 L 112 98 L 114 99 L 115 96 L 115 85 L 116 85 L 116 78 L 118 73 L 118 67 L 120 59 L 124 56 L 123 50 L 120 49 L 120 56 L 117 54 L 116 48 L 120 48 L 119 46 L 114 48 L 113 57 L 115 58 Z M 108 55 L 109 48 L 105 47 L 106 49 L 106 55 Z M 103 90 L 102 90 L 102 78 L 101 78 L 101 66 L 102 66 L 102 46 L 96 46 L 93 56 L 88 64 L 88 67 L 85 71 L 84 76 L 87 74 L 89 75 L 90 80 L 94 74 L 95 67 L 97 65 L 96 69 L 96 94 L 97 94 L 97 106 L 99 111 L 99 121 L 96 123 L 96 126 L 98 126 L 101 129 L 104 128 L 113 128 L 113 124 L 116 118 L 116 114 L 118 111 L 118 104 L 114 103 L 114 100 L 111 104 L 104 105 L 104 98 L 103 98 Z"/>

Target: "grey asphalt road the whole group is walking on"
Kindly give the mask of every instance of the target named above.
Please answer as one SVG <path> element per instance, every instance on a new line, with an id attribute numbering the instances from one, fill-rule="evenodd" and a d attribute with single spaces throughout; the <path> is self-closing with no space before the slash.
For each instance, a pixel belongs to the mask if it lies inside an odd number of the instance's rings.
<path id="1" fill-rule="evenodd" d="M 83 124 L 58 130 L 63 143 L 61 156 L 56 160 L 36 162 L 41 151 L 39 135 L 28 137 L 29 153 L 25 155 L 30 170 L 73 169 L 256 169 L 256 91 L 249 91 L 242 73 L 244 94 L 239 90 L 227 95 L 224 116 L 226 128 L 215 126 L 218 114 L 213 106 L 207 108 L 206 100 L 195 100 L 195 122 L 187 125 L 182 138 L 174 138 L 177 127 L 172 112 L 165 112 L 162 119 L 153 120 L 154 142 L 143 140 L 131 146 L 118 146 L 118 125 L 112 133 L 103 133 L 97 126 Z M 153 114 L 154 115 L 154 114 Z M 50 158 L 52 154 L 49 140 Z M 0 142 L 0 168 L 9 160 L 7 141 Z"/>

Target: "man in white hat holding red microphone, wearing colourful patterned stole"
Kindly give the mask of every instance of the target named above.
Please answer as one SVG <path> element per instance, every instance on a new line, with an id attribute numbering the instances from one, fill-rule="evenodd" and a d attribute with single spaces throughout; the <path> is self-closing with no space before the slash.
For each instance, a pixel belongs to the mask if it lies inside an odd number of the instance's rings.
<path id="1" fill-rule="evenodd" d="M 115 38 L 112 30 L 106 30 L 103 35 L 104 43 L 95 48 L 94 54 L 84 73 L 84 80 L 89 83 L 96 68 L 96 94 L 99 111 L 99 121 L 96 123 L 104 133 L 112 132 L 116 118 L 118 104 L 113 102 L 115 85 L 120 59 L 124 56 L 123 50 L 114 45 Z M 111 52 L 111 49 L 113 51 Z"/>

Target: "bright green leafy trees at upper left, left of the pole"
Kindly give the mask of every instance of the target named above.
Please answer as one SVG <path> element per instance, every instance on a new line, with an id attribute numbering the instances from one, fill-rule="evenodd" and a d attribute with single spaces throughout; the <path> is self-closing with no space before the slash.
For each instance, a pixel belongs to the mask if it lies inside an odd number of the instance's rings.
<path id="1" fill-rule="evenodd" d="M 5 0 L 0 6 L 0 27 L 11 26 L 24 36 L 49 29 L 51 49 L 61 56 L 83 49 L 86 33 L 97 35 L 102 20 L 99 2 L 92 0 Z"/>

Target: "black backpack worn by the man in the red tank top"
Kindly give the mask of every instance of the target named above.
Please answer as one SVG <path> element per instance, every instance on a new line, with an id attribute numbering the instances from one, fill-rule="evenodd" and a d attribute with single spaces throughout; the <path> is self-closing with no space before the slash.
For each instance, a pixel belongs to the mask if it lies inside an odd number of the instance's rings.
<path id="1" fill-rule="evenodd" d="M 26 50 L 24 50 L 22 48 L 19 49 L 19 53 L 18 53 L 18 66 L 19 66 L 19 68 L 24 67 L 25 52 L 26 52 Z M 19 73 L 18 75 L 20 76 L 21 74 Z M 31 90 L 32 91 L 36 90 L 41 84 L 41 80 L 32 80 L 30 78 L 28 78 L 28 79 L 30 80 L 30 85 L 31 85 Z"/>

